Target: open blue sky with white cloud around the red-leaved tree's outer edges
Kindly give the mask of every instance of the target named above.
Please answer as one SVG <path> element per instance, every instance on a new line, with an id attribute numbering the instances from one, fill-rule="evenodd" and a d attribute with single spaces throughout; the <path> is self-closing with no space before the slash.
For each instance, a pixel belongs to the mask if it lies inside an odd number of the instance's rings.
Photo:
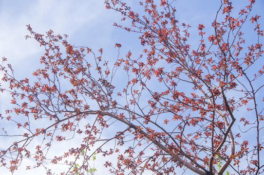
<path id="1" fill-rule="evenodd" d="M 132 0 L 128 0 L 132 1 Z M 247 0 L 235 0 L 238 7 L 243 7 L 242 2 Z M 203 23 L 208 31 L 212 31 L 210 24 L 220 0 L 178 0 L 177 15 L 180 21 L 190 23 L 191 34 L 197 33 L 197 26 Z M 263 15 L 264 0 L 257 0 L 254 14 Z M 240 8 L 238 8 L 240 9 Z M 261 14 L 262 13 L 262 14 Z M 97 51 L 103 48 L 104 59 L 115 60 L 117 52 L 115 43 L 122 45 L 121 54 L 129 50 L 135 55 L 142 51 L 137 34 L 127 33 L 113 26 L 113 22 L 119 22 L 120 14 L 112 10 L 106 10 L 103 0 L 0 0 L 0 57 L 6 57 L 13 65 L 16 75 L 24 78 L 33 70 L 38 69 L 43 48 L 34 39 L 25 40 L 29 35 L 26 25 L 30 24 L 33 30 L 40 34 L 52 29 L 55 34 L 69 35 L 68 41 L 75 46 L 87 46 Z M 248 26 L 248 30 L 254 25 Z M 247 29 L 246 29 L 247 30 Z M 193 36 L 190 44 L 198 44 L 198 37 Z M 0 113 L 9 105 L 4 94 L 0 94 Z M 0 139 L 0 147 L 4 144 Z M 100 163 L 98 158 L 97 163 Z M 105 170 L 99 170 L 100 175 Z M 0 167 L 0 172 L 7 172 Z M 19 174 L 33 175 L 33 171 L 20 169 Z M 4 173 L 4 174 L 5 174 Z M 38 172 L 39 173 L 39 172 Z M 42 173 L 39 173 L 42 174 Z M 44 172 L 43 172 L 44 174 Z"/>

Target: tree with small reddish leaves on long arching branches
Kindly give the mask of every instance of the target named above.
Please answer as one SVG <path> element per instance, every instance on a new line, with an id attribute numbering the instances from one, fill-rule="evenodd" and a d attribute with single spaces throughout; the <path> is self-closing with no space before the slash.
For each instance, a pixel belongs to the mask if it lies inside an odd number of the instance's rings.
<path id="1" fill-rule="evenodd" d="M 44 36 L 28 25 L 26 37 L 45 49 L 41 68 L 33 72 L 36 81 L 17 79 L 2 58 L 0 90 L 11 94 L 13 107 L 1 120 L 14 123 L 19 134 L 5 132 L 13 144 L 1 150 L 1 166 L 13 173 L 32 157 L 37 164 L 27 169 L 44 166 L 51 175 L 48 162 L 68 165 L 62 174 L 81 175 L 96 153 L 117 156 L 116 163 L 104 164 L 115 175 L 169 175 L 178 168 L 198 175 L 223 175 L 227 168 L 262 174 L 264 50 L 260 16 L 250 16 L 255 0 L 234 12 L 231 0 L 221 0 L 213 33 L 207 35 L 204 24 L 197 27 L 198 46 L 189 44 L 190 25 L 179 23 L 174 0 L 145 0 L 134 10 L 124 1 L 105 4 L 131 21 L 115 26 L 140 35 L 144 50 L 138 57 L 118 54 L 111 64 L 103 49 L 75 47 L 67 35 Z M 249 34 L 254 43 L 244 38 L 247 22 L 255 25 Z M 119 53 L 121 44 L 115 48 Z M 76 137 L 79 146 L 68 148 Z M 47 157 L 58 144 L 68 151 Z"/>

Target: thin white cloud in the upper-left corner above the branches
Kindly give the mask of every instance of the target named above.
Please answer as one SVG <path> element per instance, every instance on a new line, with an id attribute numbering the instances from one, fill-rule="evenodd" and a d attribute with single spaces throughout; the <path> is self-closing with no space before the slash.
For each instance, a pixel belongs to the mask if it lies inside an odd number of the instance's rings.
<path id="1" fill-rule="evenodd" d="M 29 35 L 27 24 L 41 34 L 52 29 L 59 34 L 73 35 L 88 23 L 96 25 L 100 22 L 96 21 L 97 17 L 105 13 L 104 4 L 94 0 L 27 2 L 18 12 L 12 9 L 21 4 L 2 3 L 0 11 L 0 56 L 14 63 L 41 52 L 36 41 L 25 41 L 24 36 Z"/>

